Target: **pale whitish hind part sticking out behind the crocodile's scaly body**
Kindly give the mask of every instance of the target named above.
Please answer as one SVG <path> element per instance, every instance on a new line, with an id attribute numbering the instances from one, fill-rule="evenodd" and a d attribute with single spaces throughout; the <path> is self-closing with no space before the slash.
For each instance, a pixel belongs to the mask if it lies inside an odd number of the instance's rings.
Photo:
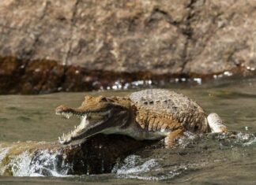
<path id="1" fill-rule="evenodd" d="M 227 127 L 224 125 L 223 121 L 216 113 L 210 113 L 207 117 L 209 128 L 212 132 L 226 132 Z"/>

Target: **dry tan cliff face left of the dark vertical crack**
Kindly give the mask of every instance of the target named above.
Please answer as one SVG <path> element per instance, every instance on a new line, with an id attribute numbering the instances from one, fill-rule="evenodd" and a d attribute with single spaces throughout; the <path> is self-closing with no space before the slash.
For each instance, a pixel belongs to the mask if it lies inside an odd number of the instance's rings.
<path id="1" fill-rule="evenodd" d="M 188 3 L 2 1 L 0 54 L 115 72 L 180 73 L 186 35 L 175 22 L 186 17 Z"/>

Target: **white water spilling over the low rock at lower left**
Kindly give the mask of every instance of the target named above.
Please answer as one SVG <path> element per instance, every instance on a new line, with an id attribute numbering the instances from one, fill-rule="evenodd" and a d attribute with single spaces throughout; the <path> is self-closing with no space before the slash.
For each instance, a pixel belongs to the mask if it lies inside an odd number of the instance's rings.
<path id="1" fill-rule="evenodd" d="M 67 164 L 63 158 L 65 154 L 58 151 L 39 150 L 12 155 L 9 151 L 12 147 L 0 150 L 1 175 L 9 173 L 13 176 L 67 176 L 72 165 Z"/>

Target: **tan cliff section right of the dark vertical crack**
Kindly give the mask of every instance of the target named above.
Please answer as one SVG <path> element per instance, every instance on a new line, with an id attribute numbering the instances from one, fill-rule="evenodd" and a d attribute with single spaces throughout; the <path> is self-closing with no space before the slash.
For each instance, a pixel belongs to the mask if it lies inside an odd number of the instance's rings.
<path id="1" fill-rule="evenodd" d="M 184 72 L 216 74 L 256 67 L 256 2 L 194 1 Z"/>

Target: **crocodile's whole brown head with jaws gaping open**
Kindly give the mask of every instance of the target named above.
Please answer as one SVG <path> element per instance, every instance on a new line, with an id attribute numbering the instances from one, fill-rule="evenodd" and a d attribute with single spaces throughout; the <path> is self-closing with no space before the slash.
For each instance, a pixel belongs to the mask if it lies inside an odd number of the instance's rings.
<path id="1" fill-rule="evenodd" d="M 72 116 L 81 119 L 81 123 L 58 140 L 62 144 L 77 144 L 98 133 L 115 133 L 130 119 L 130 102 L 127 99 L 107 98 L 103 96 L 85 96 L 85 101 L 78 108 L 60 105 L 56 114 L 66 118 Z"/>

